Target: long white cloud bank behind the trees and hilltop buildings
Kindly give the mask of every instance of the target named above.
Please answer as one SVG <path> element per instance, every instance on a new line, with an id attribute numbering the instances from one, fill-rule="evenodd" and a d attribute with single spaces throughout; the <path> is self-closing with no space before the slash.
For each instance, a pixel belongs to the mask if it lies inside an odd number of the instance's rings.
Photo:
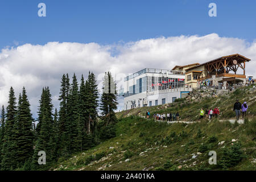
<path id="1" fill-rule="evenodd" d="M 217 57 L 240 53 L 251 59 L 246 75 L 256 76 L 256 42 L 237 38 L 206 36 L 176 36 L 139 40 L 125 44 L 101 46 L 97 43 L 49 42 L 44 46 L 24 44 L 0 52 L 0 104 L 6 105 L 10 86 L 16 96 L 26 87 L 36 114 L 43 86 L 49 86 L 53 102 L 58 107 L 60 78 L 63 73 L 77 77 L 89 71 L 96 75 L 105 71 L 128 74 L 143 68 L 168 68 L 189 63 L 204 63 Z"/>

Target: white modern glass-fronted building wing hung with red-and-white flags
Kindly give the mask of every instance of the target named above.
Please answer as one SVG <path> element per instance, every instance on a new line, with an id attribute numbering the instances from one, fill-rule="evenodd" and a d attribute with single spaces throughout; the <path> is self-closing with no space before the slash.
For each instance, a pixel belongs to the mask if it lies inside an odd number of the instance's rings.
<path id="1" fill-rule="evenodd" d="M 185 88 L 184 79 L 184 71 L 152 68 L 125 77 L 121 93 L 124 110 L 174 102 L 192 91 L 192 88 Z"/>

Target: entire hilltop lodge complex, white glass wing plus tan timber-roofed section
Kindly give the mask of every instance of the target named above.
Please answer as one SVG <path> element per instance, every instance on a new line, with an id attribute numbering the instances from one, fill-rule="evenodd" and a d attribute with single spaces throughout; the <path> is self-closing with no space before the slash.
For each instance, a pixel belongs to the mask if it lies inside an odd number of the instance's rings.
<path id="1" fill-rule="evenodd" d="M 203 64 L 176 65 L 171 70 L 144 68 L 124 78 L 119 95 L 124 97 L 124 109 L 128 110 L 172 103 L 202 86 L 222 89 L 230 85 L 245 85 L 245 64 L 249 61 L 236 53 Z"/>

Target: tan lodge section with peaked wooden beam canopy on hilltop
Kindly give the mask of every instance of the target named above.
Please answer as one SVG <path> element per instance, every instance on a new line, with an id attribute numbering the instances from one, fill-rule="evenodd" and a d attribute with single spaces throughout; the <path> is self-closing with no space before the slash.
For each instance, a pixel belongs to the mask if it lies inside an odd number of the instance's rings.
<path id="1" fill-rule="evenodd" d="M 245 64 L 250 59 L 238 53 L 222 56 L 185 69 L 185 85 L 189 88 L 215 86 L 227 88 L 233 85 L 245 85 Z"/>

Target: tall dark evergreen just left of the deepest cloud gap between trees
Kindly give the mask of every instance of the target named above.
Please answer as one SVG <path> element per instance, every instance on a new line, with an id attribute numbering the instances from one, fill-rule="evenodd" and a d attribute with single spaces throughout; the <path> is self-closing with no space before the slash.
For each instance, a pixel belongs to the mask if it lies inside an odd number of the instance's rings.
<path id="1" fill-rule="evenodd" d="M 23 166 L 27 160 L 31 160 L 33 154 L 33 134 L 32 134 L 32 114 L 30 111 L 30 103 L 28 102 L 26 90 L 23 87 L 22 97 L 19 106 L 18 117 L 18 162 L 19 166 Z"/>

